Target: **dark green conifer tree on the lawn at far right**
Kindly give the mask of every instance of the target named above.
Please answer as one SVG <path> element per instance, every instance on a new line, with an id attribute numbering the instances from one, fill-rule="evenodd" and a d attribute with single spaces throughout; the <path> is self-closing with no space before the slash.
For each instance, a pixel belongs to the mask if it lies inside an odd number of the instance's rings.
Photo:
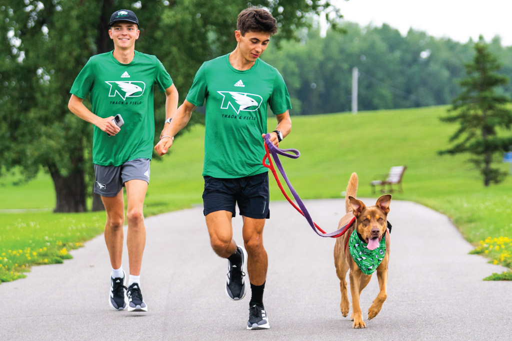
<path id="1" fill-rule="evenodd" d="M 496 94 L 496 88 L 507 84 L 508 79 L 496 73 L 501 65 L 489 52 L 482 36 L 475 44 L 475 52 L 473 62 L 465 64 L 468 77 L 460 82 L 463 92 L 449 109 L 454 113 L 441 118 L 443 122 L 459 123 L 450 138 L 455 144 L 439 153 L 473 154 L 470 161 L 482 174 L 484 186 L 489 186 L 500 183 L 507 174 L 492 164 L 494 154 L 506 150 L 510 144 L 510 137 L 499 137 L 498 129 L 510 129 L 512 111 L 506 107 L 510 99 Z"/>

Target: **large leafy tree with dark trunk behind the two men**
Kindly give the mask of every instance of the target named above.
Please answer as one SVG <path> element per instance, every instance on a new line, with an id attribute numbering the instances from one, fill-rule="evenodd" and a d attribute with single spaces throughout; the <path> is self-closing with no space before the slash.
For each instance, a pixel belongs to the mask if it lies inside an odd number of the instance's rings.
<path id="1" fill-rule="evenodd" d="M 336 24 L 330 0 L 259 0 L 280 26 L 277 40 L 310 26 L 309 15 Z M 0 174 L 19 167 L 28 180 L 42 167 L 57 196 L 55 212 L 86 211 L 91 193 L 92 127 L 67 108 L 69 90 L 92 55 L 112 50 L 106 23 L 133 8 L 141 23 L 137 50 L 157 55 L 181 99 L 205 60 L 234 48 L 243 0 L 24 0 L 0 5 Z M 84 101 L 87 103 L 87 101 Z M 164 96 L 155 96 L 156 137 Z M 194 118 L 198 120 L 197 118 Z M 97 199 L 98 197 L 96 197 Z M 98 203 L 98 201 L 95 201 Z"/>

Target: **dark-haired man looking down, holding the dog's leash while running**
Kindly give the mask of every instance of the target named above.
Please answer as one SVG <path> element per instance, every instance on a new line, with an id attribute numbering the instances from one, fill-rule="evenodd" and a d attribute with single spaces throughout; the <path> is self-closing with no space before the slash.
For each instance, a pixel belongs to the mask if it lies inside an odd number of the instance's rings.
<path id="1" fill-rule="evenodd" d="M 159 155 L 165 154 L 173 145 L 174 135 L 206 101 L 204 215 L 211 247 L 228 259 L 226 293 L 232 300 L 241 300 L 246 292 L 246 257 L 244 248 L 232 238 L 231 225 L 238 203 L 251 286 L 247 329 L 270 328 L 263 305 L 268 266 L 263 227 L 270 216 L 268 169 L 262 165 L 267 105 L 278 120 L 270 141 L 279 145 L 291 130 L 290 96 L 283 77 L 260 59 L 276 32 L 276 20 L 268 11 L 242 11 L 234 32 L 236 49 L 203 63 L 186 100 L 155 146 Z"/>

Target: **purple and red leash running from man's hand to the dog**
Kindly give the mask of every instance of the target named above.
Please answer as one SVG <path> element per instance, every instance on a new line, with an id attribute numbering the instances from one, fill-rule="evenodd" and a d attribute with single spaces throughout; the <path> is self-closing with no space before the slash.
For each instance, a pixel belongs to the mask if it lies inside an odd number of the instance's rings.
<path id="1" fill-rule="evenodd" d="M 318 236 L 337 238 L 339 236 L 342 236 L 345 232 L 348 231 L 348 229 L 350 228 L 352 223 L 355 221 L 355 217 L 352 218 L 352 220 L 348 224 L 346 224 L 345 226 L 342 226 L 342 228 L 340 228 L 334 232 L 330 232 L 330 233 L 326 233 L 324 230 L 319 228 L 319 226 L 313 221 L 313 219 L 311 219 L 311 216 L 309 215 L 309 212 L 306 209 L 304 202 L 302 202 L 301 198 L 298 196 L 297 192 L 291 185 L 290 180 L 288 179 L 288 176 L 286 176 L 285 170 L 284 170 L 283 165 L 281 164 L 281 161 L 279 160 L 279 156 L 278 156 L 278 154 L 279 154 L 279 155 L 283 155 L 283 156 L 290 157 L 290 158 L 298 158 L 299 156 L 301 156 L 300 151 L 298 151 L 297 149 L 293 149 L 293 148 L 279 149 L 272 142 L 270 142 L 270 134 L 268 134 L 268 133 L 265 135 L 265 151 L 266 151 L 266 153 L 265 153 L 265 156 L 263 157 L 263 162 L 262 162 L 263 166 L 270 169 L 270 171 L 274 175 L 274 178 L 275 178 L 276 182 L 278 183 L 278 186 L 281 189 L 281 192 L 283 193 L 285 198 L 295 208 L 295 210 L 297 210 L 299 213 L 301 213 L 306 218 L 309 225 L 311 226 L 313 231 Z M 293 154 L 290 154 L 290 153 L 293 153 Z M 270 157 L 270 155 L 272 155 L 272 157 Z M 288 188 L 290 189 L 291 194 L 295 198 L 295 201 L 297 202 L 298 207 L 290 199 L 290 197 L 286 194 L 283 186 L 281 185 L 281 181 L 279 180 L 278 174 L 275 171 L 274 165 L 272 163 L 272 158 L 275 162 L 275 165 L 278 167 L 279 172 L 281 173 L 284 180 L 286 181 L 286 184 L 288 185 Z M 267 159 L 268 159 L 269 164 L 266 163 Z"/>

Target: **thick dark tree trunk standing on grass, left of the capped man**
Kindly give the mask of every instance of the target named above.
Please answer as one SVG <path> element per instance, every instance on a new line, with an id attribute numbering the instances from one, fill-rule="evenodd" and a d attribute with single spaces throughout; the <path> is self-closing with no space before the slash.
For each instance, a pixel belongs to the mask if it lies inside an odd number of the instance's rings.
<path id="1" fill-rule="evenodd" d="M 62 176 L 57 167 L 49 167 L 55 186 L 57 204 L 53 212 L 86 212 L 86 186 L 83 169 L 76 168 Z"/>

